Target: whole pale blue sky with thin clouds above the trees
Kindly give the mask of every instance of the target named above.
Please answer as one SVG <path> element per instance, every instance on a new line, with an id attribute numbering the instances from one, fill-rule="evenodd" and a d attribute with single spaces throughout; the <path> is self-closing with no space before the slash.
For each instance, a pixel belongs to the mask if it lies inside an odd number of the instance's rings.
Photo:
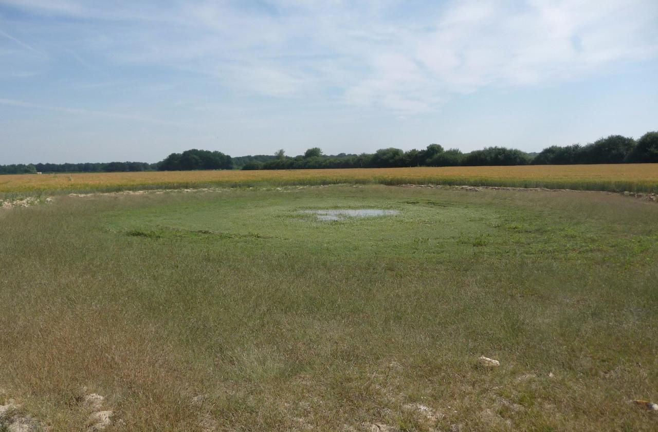
<path id="1" fill-rule="evenodd" d="M 0 164 L 652 130 L 656 0 L 0 0 Z"/>

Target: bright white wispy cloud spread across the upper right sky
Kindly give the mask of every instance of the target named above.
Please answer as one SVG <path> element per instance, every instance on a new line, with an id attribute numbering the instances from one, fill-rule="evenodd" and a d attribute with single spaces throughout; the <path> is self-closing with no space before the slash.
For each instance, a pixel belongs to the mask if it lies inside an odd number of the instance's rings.
<path id="1" fill-rule="evenodd" d="M 632 3 L 632 2 L 631 2 Z M 656 3 L 455 3 L 430 30 L 405 32 L 392 54 L 370 55 L 370 76 L 349 89 L 374 101 L 384 95 L 468 93 L 487 86 L 524 86 L 578 80 L 633 60 L 655 58 Z M 614 30 L 613 30 L 614 29 Z M 577 41 L 577 43 L 574 43 Z M 397 45 L 397 46 L 395 46 Z M 387 60 L 388 59 L 388 60 Z M 402 71 L 402 72 L 401 72 Z"/>

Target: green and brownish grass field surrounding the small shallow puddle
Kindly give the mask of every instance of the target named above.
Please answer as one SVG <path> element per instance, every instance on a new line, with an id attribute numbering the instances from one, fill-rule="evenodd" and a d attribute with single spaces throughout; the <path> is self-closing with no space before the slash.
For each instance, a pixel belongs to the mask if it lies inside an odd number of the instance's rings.
<path id="1" fill-rule="evenodd" d="M 329 208 L 399 214 L 305 212 Z M 657 221 L 620 195 L 385 185 L 0 211 L 0 404 L 53 432 L 89 424 L 83 387 L 106 431 L 656 430 L 628 401 L 658 401 Z"/>

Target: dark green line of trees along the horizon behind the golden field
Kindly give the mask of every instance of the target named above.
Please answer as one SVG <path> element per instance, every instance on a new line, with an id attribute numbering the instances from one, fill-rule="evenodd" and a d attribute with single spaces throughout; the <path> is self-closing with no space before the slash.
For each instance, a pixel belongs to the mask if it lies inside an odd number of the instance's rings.
<path id="1" fill-rule="evenodd" d="M 298 170 L 312 168 L 393 168 L 403 166 L 487 166 L 528 164 L 620 164 L 658 162 L 658 132 L 647 132 L 635 140 L 610 135 L 587 145 L 553 145 L 540 153 L 525 153 L 507 147 L 486 147 L 462 153 L 430 144 L 423 150 L 403 151 L 390 147 L 375 153 L 324 155 L 319 147 L 303 155 L 286 156 L 283 150 L 274 155 L 251 155 L 232 158 L 219 151 L 190 149 L 172 153 L 160 162 L 107 162 L 83 164 L 11 164 L 0 165 L 0 174 L 36 172 L 129 172 L 178 170 Z"/>

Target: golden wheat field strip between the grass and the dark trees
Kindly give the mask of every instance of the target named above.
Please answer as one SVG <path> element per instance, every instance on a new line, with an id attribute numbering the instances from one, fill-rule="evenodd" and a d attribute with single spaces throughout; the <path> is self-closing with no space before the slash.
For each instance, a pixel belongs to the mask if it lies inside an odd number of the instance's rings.
<path id="1" fill-rule="evenodd" d="M 658 164 L 18 174 L 0 176 L 0 193 L 331 183 L 436 183 L 656 192 Z"/>

